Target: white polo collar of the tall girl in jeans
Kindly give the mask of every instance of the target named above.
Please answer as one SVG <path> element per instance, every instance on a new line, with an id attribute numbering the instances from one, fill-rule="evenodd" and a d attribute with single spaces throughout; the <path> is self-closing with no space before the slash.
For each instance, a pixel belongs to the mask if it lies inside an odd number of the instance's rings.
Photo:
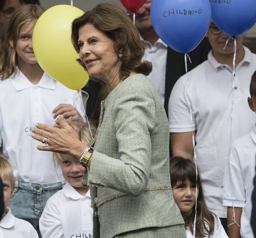
<path id="1" fill-rule="evenodd" d="M 16 75 L 13 74 L 10 77 L 10 80 L 16 91 L 21 91 L 34 86 L 54 90 L 56 86 L 56 81 L 47 75 L 46 72 L 43 73 L 43 76 L 37 85 L 32 84 L 20 70 L 18 70 Z"/>

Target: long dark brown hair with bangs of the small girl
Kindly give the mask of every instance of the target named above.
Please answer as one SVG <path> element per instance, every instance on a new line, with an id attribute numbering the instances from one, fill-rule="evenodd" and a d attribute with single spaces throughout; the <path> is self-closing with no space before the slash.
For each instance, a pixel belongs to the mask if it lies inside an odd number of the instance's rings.
<path id="1" fill-rule="evenodd" d="M 198 198 L 195 235 L 196 237 L 205 237 L 207 235 L 212 235 L 214 231 L 214 216 L 216 215 L 209 211 L 209 209 L 207 208 L 199 172 L 196 176 L 195 163 L 192 160 L 185 159 L 179 156 L 171 158 L 170 176 L 172 187 L 174 187 L 176 183 L 181 183 L 185 187 L 187 181 L 191 183 L 191 186 L 197 186 Z M 192 213 L 190 214 L 190 216 L 184 218 L 185 228 L 189 229 L 192 234 L 194 232 L 194 217 L 195 205 L 192 209 Z"/>

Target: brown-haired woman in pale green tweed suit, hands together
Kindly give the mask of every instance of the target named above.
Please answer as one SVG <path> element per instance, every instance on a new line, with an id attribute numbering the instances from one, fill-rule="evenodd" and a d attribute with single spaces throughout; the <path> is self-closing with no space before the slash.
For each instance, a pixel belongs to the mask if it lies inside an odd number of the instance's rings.
<path id="1" fill-rule="evenodd" d="M 58 127 L 33 129 L 34 139 L 48 143 L 37 148 L 70 154 L 86 167 L 93 237 L 185 238 L 170 185 L 168 120 L 146 77 L 152 65 L 142 62 L 136 27 L 122 9 L 104 3 L 74 20 L 71 38 L 90 78 L 108 87 L 96 138 L 80 142 L 59 117 Z"/>

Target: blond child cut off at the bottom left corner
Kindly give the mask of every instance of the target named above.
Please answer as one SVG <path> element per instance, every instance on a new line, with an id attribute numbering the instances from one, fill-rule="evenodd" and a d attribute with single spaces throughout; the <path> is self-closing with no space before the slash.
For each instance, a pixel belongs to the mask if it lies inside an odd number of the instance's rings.
<path id="1" fill-rule="evenodd" d="M 5 210 L 0 219 L 0 238 L 19 237 L 19 238 L 38 238 L 34 227 L 25 220 L 16 218 L 12 215 L 8 207 L 10 199 L 14 194 L 14 176 L 10 163 L 0 156 L 0 178 L 3 181 L 3 199 Z"/>

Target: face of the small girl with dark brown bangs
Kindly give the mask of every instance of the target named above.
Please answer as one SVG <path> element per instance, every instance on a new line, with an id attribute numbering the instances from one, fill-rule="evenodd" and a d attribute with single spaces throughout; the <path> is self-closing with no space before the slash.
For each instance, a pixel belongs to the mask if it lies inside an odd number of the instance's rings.
<path id="1" fill-rule="evenodd" d="M 173 199 L 178 205 L 182 217 L 188 217 L 196 203 L 196 188 L 191 186 L 189 181 L 185 186 L 178 181 L 173 186 Z"/>

